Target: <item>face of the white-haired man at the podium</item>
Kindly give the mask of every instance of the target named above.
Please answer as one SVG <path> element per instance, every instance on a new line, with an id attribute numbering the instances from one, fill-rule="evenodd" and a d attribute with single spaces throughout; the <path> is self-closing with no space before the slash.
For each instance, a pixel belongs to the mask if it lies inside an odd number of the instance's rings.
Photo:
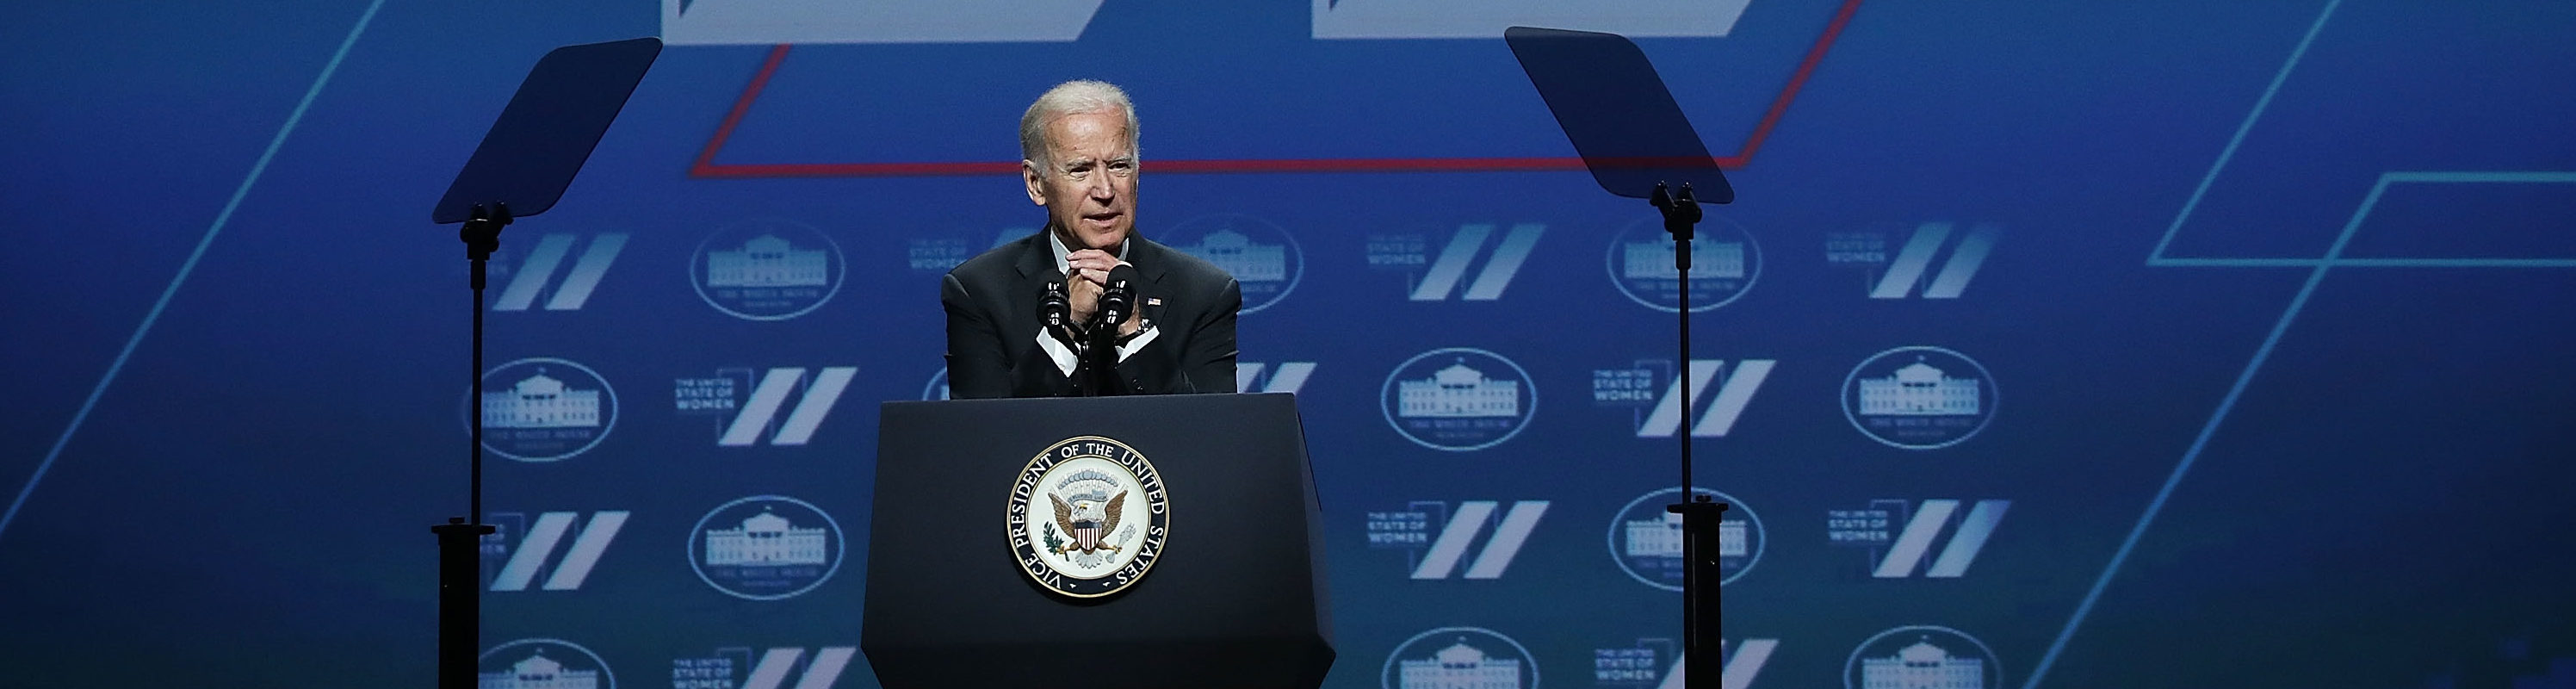
<path id="1" fill-rule="evenodd" d="M 1059 116 L 1046 126 L 1046 157 L 1020 165 L 1028 201 L 1046 206 L 1064 248 L 1115 253 L 1136 230 L 1136 152 L 1128 150 L 1126 116 Z"/>

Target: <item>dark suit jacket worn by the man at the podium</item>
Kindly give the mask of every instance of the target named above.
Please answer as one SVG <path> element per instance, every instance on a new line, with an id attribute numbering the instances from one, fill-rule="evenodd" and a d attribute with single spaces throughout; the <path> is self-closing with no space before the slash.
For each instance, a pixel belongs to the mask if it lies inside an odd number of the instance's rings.
<path id="1" fill-rule="evenodd" d="M 1128 237 L 1126 261 L 1141 276 L 1136 302 L 1159 333 L 1118 361 L 1118 377 L 1144 395 L 1234 392 L 1234 312 L 1242 284 L 1224 268 Z M 1038 292 L 1056 274 L 1046 230 L 969 258 L 940 279 L 948 310 L 951 397 L 1059 397 L 1074 390 L 1038 348 Z M 1162 299 L 1151 305 L 1149 299 Z"/>

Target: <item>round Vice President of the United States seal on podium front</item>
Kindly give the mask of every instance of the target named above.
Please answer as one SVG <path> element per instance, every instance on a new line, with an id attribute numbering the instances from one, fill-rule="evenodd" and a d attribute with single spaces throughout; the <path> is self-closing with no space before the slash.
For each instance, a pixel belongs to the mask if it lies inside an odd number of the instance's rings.
<path id="1" fill-rule="evenodd" d="M 1126 591 L 1170 539 L 1172 503 L 1154 464 L 1115 439 L 1077 436 L 1028 459 L 1010 483 L 1010 550 L 1048 591 Z"/>

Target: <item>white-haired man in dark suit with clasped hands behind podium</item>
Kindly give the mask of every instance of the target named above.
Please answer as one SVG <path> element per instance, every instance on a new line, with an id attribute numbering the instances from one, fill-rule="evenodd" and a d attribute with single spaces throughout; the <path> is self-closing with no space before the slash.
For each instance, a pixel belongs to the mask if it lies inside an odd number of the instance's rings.
<path id="1" fill-rule="evenodd" d="M 1020 116 L 1020 157 L 1046 230 L 940 279 L 951 397 L 1234 392 L 1242 286 L 1136 235 L 1136 106 L 1126 93 L 1095 80 L 1046 90 Z M 1121 323 L 1092 323 L 1118 266 L 1139 274 L 1133 307 Z M 1064 281 L 1074 328 L 1043 325 L 1048 281 Z"/>

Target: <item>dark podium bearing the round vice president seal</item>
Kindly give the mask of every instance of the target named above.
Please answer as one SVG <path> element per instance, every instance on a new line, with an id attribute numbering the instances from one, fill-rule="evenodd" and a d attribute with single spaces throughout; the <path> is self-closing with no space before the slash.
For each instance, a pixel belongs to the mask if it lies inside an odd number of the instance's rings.
<path id="1" fill-rule="evenodd" d="M 860 650 L 889 689 L 1311 689 L 1319 521 L 1293 395 L 886 403 Z"/>

